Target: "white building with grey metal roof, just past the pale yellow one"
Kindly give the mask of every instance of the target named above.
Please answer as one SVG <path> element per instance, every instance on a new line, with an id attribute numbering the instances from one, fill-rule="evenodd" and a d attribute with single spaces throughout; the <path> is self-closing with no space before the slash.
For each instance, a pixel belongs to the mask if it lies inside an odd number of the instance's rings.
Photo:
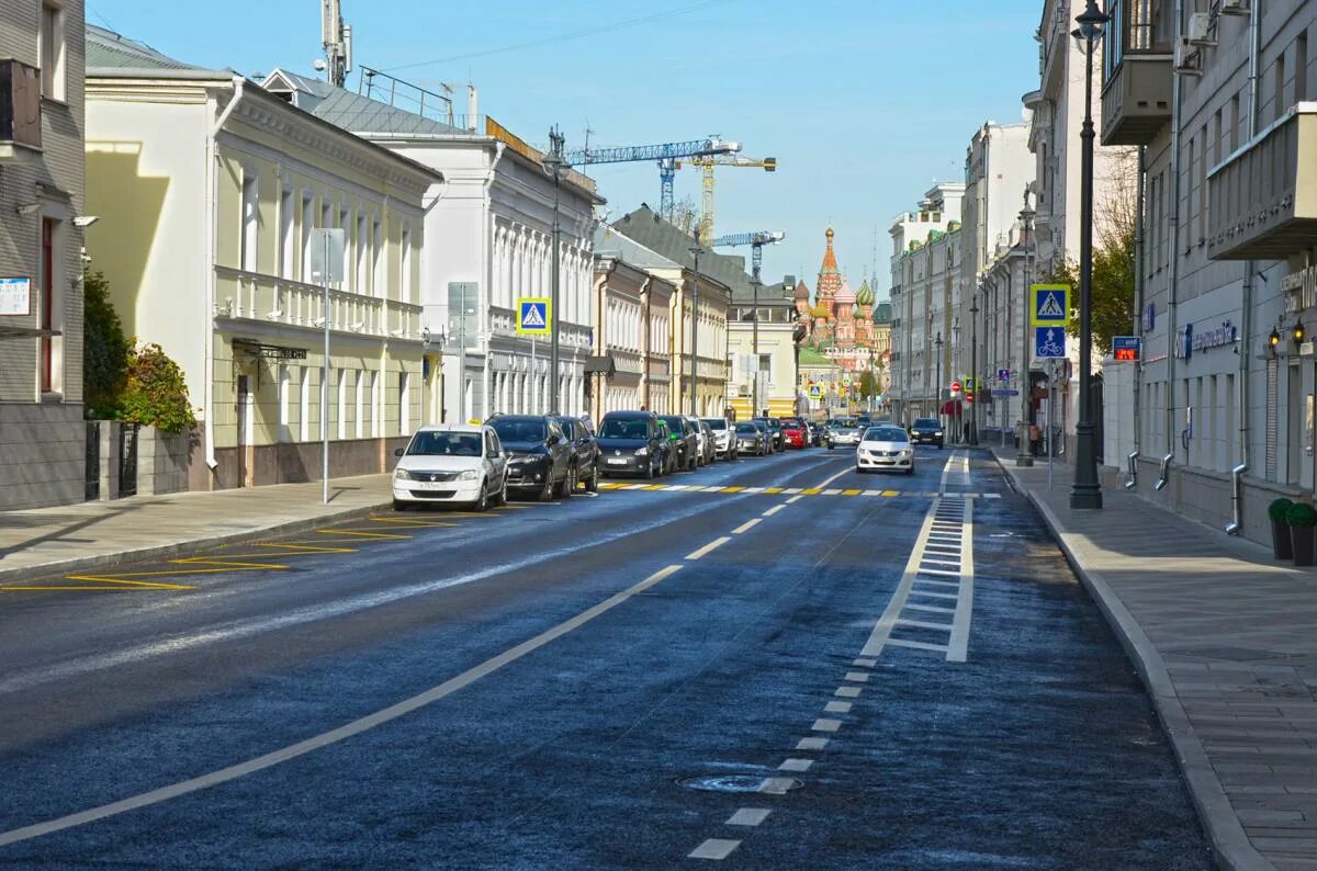
<path id="1" fill-rule="evenodd" d="M 387 79 L 374 72 L 374 80 Z M 382 93 L 419 95 L 404 82 L 377 82 Z M 425 234 L 439 243 L 421 255 L 427 358 L 445 374 L 435 420 L 483 420 L 494 412 L 565 414 L 585 411 L 590 357 L 590 245 L 594 182 L 566 171 L 554 184 L 544 153 L 491 118 L 483 129 L 353 93 L 284 70 L 263 87 L 333 125 L 352 130 L 443 176 L 427 192 Z M 443 100 L 428 95 L 431 105 Z M 474 128 L 479 118 L 468 118 Z M 554 205 L 557 204 L 557 205 Z M 551 296 L 554 212 L 558 224 L 558 384 L 551 384 L 549 338 L 518 332 L 522 299 Z M 465 309 L 465 311 L 464 311 Z M 557 401 L 554 401 L 554 389 Z"/>

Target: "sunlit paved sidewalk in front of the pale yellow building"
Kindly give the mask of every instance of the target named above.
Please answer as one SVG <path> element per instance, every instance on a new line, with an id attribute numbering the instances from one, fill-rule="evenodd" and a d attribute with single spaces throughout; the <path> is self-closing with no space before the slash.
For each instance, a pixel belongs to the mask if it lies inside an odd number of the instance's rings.
<path id="1" fill-rule="evenodd" d="M 295 533 L 391 504 L 390 475 L 0 512 L 0 585 L 119 560 Z"/>

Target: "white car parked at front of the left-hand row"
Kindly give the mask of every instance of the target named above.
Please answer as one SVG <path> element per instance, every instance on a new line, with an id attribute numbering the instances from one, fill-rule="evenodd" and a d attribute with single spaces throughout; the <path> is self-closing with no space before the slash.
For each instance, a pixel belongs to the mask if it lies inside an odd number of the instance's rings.
<path id="1" fill-rule="evenodd" d="M 507 457 L 490 426 L 421 426 L 394 454 L 394 508 L 461 503 L 475 510 L 507 501 Z"/>

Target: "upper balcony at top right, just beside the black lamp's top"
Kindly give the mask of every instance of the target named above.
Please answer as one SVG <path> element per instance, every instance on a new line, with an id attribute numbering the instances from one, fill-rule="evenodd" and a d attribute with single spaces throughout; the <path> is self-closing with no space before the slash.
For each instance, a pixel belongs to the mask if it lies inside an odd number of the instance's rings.
<path id="1" fill-rule="evenodd" d="M 1169 4 L 1112 0 L 1102 46 L 1102 145 L 1147 145 L 1171 122 Z"/>

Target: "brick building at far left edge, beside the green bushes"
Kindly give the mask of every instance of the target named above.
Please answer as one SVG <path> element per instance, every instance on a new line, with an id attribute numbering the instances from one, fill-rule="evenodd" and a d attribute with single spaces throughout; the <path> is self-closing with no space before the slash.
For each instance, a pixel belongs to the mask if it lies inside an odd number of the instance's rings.
<path id="1" fill-rule="evenodd" d="M 83 0 L 0 0 L 0 509 L 80 501 Z"/>

